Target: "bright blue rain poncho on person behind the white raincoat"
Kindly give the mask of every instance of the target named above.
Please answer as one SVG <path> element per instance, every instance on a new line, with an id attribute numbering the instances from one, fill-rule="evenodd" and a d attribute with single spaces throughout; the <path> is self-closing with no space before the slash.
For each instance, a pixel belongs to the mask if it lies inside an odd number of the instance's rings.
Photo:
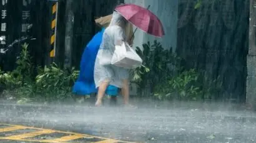
<path id="1" fill-rule="evenodd" d="M 80 63 L 79 78 L 72 89 L 72 93 L 75 95 L 90 95 L 91 93 L 97 93 L 97 88 L 94 83 L 94 64 L 102 42 L 103 33 L 104 29 L 94 35 L 84 49 Z M 117 95 L 117 88 L 115 86 L 109 86 L 106 93 L 107 95 Z"/>

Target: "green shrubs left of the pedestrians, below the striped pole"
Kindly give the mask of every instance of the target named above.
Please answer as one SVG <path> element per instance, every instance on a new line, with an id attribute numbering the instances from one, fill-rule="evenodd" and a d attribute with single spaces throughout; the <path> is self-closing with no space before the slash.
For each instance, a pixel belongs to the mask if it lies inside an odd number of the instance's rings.
<path id="1" fill-rule="evenodd" d="M 35 69 L 27 47 L 27 44 L 22 45 L 14 71 L 0 71 L 0 86 L 2 91 L 5 90 L 2 94 L 14 96 L 21 104 L 27 101 L 59 101 L 68 98 L 79 71 L 74 68 L 71 71 L 62 70 L 56 63 L 44 69 Z"/>

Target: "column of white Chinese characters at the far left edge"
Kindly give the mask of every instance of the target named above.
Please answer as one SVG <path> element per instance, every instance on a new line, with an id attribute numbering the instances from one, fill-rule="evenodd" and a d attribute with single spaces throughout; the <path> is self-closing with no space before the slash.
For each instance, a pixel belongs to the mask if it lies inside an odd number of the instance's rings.
<path id="1" fill-rule="evenodd" d="M 6 45 L 6 30 L 7 30 L 7 2 L 8 0 L 1 0 L 1 34 L 2 40 L 0 42 L 1 45 Z"/>

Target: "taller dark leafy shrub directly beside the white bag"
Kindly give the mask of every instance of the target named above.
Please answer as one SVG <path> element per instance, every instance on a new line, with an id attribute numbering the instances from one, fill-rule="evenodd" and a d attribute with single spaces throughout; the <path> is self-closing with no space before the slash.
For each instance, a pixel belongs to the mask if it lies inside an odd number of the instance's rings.
<path id="1" fill-rule="evenodd" d="M 136 47 L 136 52 L 142 58 L 143 63 L 141 67 L 132 70 L 132 82 L 139 86 L 139 95 L 146 96 L 142 94 L 142 91 L 148 88 L 147 90 L 153 93 L 155 86 L 174 74 L 173 68 L 177 67 L 177 61 L 180 58 L 172 53 L 172 48 L 164 50 L 156 40 L 153 44 L 150 42 L 143 44 L 142 48 L 143 50 Z"/>

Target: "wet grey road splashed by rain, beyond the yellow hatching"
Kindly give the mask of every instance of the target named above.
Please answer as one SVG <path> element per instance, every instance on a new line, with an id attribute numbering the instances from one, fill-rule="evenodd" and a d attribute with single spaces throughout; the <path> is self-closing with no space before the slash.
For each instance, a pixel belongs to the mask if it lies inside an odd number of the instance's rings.
<path id="1" fill-rule="evenodd" d="M 256 114 L 226 104 L 184 103 L 137 109 L 0 104 L 0 123 L 135 142 L 256 142 Z"/>

